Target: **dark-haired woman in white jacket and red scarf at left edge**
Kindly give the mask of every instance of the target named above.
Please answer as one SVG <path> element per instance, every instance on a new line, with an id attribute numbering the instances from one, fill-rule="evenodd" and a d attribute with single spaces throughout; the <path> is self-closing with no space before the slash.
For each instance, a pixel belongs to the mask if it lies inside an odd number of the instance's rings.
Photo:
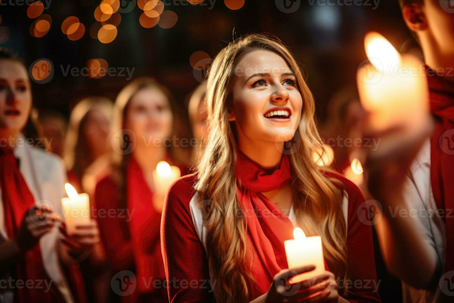
<path id="1" fill-rule="evenodd" d="M 24 144 L 31 107 L 27 68 L 0 49 L 0 276 L 13 281 L 2 287 L 0 301 L 86 302 L 78 263 L 99 242 L 98 228 L 92 220 L 66 234 L 63 163 Z M 28 287 L 30 280 L 48 287 Z"/>

